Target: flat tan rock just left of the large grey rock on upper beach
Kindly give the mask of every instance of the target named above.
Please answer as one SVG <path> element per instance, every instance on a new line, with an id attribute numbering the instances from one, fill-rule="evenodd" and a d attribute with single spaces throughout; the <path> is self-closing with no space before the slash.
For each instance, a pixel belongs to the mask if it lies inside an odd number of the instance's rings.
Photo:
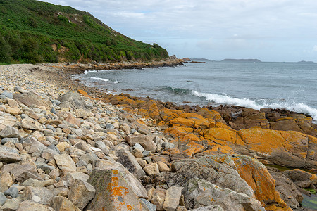
<path id="1" fill-rule="evenodd" d="M 13 99 L 16 101 L 23 103 L 25 106 L 45 106 L 46 109 L 50 109 L 51 102 L 50 101 L 44 101 L 40 96 L 35 94 L 34 92 L 30 92 L 28 94 L 19 94 L 15 93 L 13 94 Z"/>

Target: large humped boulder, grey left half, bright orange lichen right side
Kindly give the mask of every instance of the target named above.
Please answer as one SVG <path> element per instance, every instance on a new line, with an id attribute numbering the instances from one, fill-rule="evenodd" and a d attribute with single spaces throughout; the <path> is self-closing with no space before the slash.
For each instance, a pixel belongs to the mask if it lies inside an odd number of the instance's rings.
<path id="1" fill-rule="evenodd" d="M 254 197 L 263 206 L 275 203 L 289 209 L 275 191 L 275 181 L 266 167 L 245 155 L 209 155 L 199 159 L 177 160 L 166 174 L 168 185 L 183 186 L 189 179 L 199 178 L 221 188 Z"/>

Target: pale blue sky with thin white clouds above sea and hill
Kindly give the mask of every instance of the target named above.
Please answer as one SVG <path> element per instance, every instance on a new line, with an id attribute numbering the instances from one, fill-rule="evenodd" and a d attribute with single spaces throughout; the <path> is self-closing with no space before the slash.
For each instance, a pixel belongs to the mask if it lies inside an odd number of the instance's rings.
<path id="1" fill-rule="evenodd" d="M 178 58 L 317 62 L 316 0 L 44 0 Z"/>

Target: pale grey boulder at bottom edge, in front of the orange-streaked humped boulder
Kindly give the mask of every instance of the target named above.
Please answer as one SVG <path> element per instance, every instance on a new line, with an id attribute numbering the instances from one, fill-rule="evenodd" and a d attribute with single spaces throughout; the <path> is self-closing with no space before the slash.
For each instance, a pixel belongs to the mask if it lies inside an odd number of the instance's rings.
<path id="1" fill-rule="evenodd" d="M 258 211 L 261 203 L 244 193 L 220 188 L 204 179 L 189 179 L 182 192 L 187 209 L 220 205 L 223 210 Z"/>

